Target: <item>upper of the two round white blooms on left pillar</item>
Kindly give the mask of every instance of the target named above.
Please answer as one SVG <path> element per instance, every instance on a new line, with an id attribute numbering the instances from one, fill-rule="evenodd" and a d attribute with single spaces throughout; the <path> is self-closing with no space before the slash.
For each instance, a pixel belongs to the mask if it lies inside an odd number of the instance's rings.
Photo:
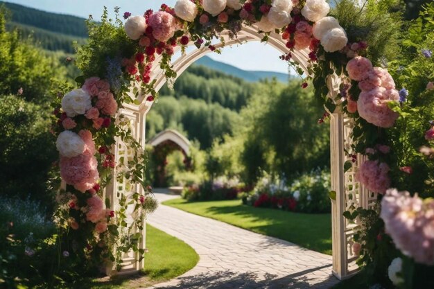
<path id="1" fill-rule="evenodd" d="M 80 88 L 70 91 L 62 98 L 62 110 L 69 117 L 85 114 L 91 107 L 90 95 Z"/>

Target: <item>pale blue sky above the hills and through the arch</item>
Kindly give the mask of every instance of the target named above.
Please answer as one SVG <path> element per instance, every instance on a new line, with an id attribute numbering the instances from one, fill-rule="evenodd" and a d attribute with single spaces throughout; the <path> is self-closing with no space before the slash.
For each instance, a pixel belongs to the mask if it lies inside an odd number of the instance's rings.
<path id="1" fill-rule="evenodd" d="M 141 15 L 149 8 L 158 9 L 162 3 L 170 6 L 175 5 L 175 0 L 6 0 L 6 2 L 85 18 L 92 15 L 94 19 L 99 19 L 103 6 L 107 6 L 109 11 L 113 11 L 114 7 L 119 6 L 121 11 L 129 11 L 132 15 Z M 226 62 L 245 70 L 287 73 L 288 66 L 286 62 L 279 60 L 280 54 L 271 46 L 250 42 L 242 46 L 225 48 L 221 55 L 211 53 L 209 56 L 214 60 Z"/>

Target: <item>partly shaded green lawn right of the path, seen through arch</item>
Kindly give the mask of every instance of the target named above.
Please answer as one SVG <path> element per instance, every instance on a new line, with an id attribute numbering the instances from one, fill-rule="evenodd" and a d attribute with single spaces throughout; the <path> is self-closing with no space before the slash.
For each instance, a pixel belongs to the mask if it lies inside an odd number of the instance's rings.
<path id="1" fill-rule="evenodd" d="M 255 208 L 243 205 L 241 200 L 187 202 L 174 199 L 163 204 L 331 255 L 329 213 L 291 213 Z"/>

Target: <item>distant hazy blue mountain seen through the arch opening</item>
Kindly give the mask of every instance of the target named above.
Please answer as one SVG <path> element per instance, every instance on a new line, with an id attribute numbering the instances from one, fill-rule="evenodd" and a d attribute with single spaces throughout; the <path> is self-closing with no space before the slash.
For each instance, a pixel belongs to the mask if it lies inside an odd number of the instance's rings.
<path id="1" fill-rule="evenodd" d="M 280 82 L 288 82 L 288 79 L 291 78 L 287 73 L 273 72 L 273 71 L 249 71 L 239 69 L 230 64 L 226 64 L 223 62 L 218 62 L 209 58 L 209 56 L 204 56 L 199 60 L 196 60 L 194 64 L 203 65 L 205 67 L 209 67 L 211 69 L 215 69 L 217 71 L 221 71 L 226 74 L 230 74 L 232 76 L 236 76 L 238 78 L 242 78 L 243 80 L 249 82 L 257 82 L 263 78 L 276 78 Z"/>

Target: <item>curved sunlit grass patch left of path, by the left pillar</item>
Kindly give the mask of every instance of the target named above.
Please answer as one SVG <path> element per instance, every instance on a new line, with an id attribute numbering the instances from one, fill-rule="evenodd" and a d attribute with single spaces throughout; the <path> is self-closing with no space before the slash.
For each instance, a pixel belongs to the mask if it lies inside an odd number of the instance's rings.
<path id="1" fill-rule="evenodd" d="M 146 225 L 144 273 L 131 277 L 103 278 L 89 281 L 80 288 L 133 289 L 168 281 L 193 268 L 199 261 L 196 251 L 182 240 Z"/>

